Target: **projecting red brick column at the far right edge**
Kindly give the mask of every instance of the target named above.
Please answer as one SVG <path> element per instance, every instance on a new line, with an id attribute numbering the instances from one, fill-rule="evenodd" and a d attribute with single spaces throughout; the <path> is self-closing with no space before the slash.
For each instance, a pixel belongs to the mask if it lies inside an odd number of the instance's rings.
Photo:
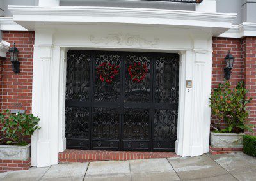
<path id="1" fill-rule="evenodd" d="M 256 135 L 256 37 L 245 37 L 242 44 L 242 80 L 246 89 L 249 90 L 248 97 L 253 98 L 248 104 L 250 110 L 249 121 L 254 124 L 254 134 Z"/>

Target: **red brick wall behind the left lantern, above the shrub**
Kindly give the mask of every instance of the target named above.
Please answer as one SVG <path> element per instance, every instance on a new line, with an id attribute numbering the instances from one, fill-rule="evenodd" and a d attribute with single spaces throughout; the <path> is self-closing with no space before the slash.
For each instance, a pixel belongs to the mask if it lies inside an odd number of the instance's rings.
<path id="1" fill-rule="evenodd" d="M 12 71 L 10 56 L 1 60 L 1 110 L 26 110 L 31 113 L 33 45 L 35 34 L 29 31 L 3 31 L 3 40 L 19 49 L 20 73 Z"/>

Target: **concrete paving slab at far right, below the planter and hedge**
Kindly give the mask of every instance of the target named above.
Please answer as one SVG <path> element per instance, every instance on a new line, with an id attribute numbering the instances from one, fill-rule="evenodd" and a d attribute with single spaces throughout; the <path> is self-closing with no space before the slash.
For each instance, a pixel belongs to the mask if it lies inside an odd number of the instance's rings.
<path id="1" fill-rule="evenodd" d="M 242 152 L 209 156 L 231 174 L 256 171 L 256 158 Z"/>

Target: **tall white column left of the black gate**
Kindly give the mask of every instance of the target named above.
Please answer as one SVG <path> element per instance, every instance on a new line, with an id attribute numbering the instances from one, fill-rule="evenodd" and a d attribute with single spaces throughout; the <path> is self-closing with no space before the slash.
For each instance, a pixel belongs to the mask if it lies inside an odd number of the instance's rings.
<path id="1" fill-rule="evenodd" d="M 32 112 L 40 118 L 41 129 L 32 136 L 32 164 L 38 167 L 58 164 L 60 48 L 52 47 L 52 36 L 53 31 L 35 31 Z"/>

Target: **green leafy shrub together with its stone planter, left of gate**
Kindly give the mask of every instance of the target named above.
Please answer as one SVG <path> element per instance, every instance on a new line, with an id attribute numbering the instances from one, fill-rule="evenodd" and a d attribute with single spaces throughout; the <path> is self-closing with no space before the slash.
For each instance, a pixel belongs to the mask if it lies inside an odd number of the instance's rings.
<path id="1" fill-rule="evenodd" d="M 0 114 L 1 145 L 0 159 L 26 160 L 30 157 L 31 144 L 24 138 L 39 129 L 39 118 L 32 114 L 12 114 L 8 110 Z"/>

